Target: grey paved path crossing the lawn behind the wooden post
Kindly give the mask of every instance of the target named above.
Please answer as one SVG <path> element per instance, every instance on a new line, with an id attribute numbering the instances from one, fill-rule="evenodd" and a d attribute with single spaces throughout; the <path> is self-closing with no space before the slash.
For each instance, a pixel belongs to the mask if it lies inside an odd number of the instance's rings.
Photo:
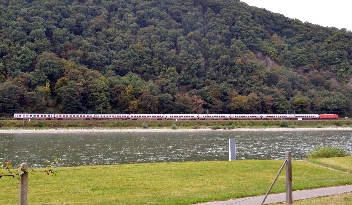
<path id="1" fill-rule="evenodd" d="M 346 192 L 352 192 L 352 185 L 333 186 L 325 188 L 315 188 L 310 190 L 301 190 L 293 192 L 293 200 L 309 199 L 314 197 L 322 197 L 327 195 L 341 194 Z M 212 201 L 202 203 L 202 205 L 259 205 L 262 203 L 265 195 L 259 195 L 256 197 L 245 197 L 238 198 L 235 200 L 228 201 Z M 278 203 L 286 201 L 286 193 L 269 194 L 265 199 L 264 204 Z"/>

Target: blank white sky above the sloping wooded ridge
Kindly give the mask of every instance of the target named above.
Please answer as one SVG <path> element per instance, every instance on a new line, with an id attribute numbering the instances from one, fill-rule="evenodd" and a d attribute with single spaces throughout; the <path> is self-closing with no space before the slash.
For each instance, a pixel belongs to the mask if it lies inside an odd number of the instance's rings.
<path id="1" fill-rule="evenodd" d="M 241 0 L 291 19 L 352 31 L 351 0 Z"/>

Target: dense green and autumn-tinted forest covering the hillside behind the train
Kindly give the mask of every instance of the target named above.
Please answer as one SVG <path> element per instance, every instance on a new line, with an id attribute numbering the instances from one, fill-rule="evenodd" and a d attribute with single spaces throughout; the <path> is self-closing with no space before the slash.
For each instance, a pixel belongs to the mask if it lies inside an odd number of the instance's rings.
<path id="1" fill-rule="evenodd" d="M 0 0 L 0 109 L 352 110 L 352 33 L 239 0 Z"/>

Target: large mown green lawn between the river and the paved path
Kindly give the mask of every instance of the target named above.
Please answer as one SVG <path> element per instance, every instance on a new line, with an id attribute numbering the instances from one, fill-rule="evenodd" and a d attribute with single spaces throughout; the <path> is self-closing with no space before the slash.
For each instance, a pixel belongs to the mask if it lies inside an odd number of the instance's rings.
<path id="1" fill-rule="evenodd" d="M 192 204 L 264 194 L 283 161 L 245 160 L 85 166 L 29 175 L 29 204 Z M 293 161 L 293 189 L 348 184 L 344 174 Z M 273 192 L 284 192 L 284 172 Z M 317 179 L 317 180 L 315 180 Z M 319 179 L 319 180 L 318 180 Z M 0 204 L 18 203 L 18 180 L 0 179 Z"/>

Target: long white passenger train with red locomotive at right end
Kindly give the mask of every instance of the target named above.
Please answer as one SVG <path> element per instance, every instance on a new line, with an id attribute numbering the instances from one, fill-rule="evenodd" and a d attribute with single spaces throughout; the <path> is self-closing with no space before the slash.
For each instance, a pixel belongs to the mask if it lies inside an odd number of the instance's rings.
<path id="1" fill-rule="evenodd" d="M 15 113 L 15 119 L 338 119 L 337 114 L 37 114 Z"/>

